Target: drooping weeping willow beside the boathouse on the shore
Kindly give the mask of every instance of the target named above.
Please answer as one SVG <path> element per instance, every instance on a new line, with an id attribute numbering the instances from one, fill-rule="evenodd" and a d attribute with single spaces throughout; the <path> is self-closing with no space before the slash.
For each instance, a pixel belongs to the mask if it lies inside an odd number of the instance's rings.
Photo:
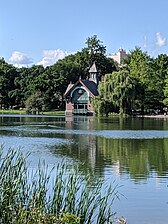
<path id="1" fill-rule="evenodd" d="M 106 74 L 104 82 L 99 85 L 99 96 L 94 100 L 98 113 L 131 114 L 136 99 L 136 83 L 136 79 L 124 69 Z"/>

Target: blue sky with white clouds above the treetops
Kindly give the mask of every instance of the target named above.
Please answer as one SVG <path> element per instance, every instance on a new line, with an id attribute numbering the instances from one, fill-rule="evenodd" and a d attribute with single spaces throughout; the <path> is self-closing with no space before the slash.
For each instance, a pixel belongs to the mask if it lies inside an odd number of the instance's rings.
<path id="1" fill-rule="evenodd" d="M 88 37 L 106 46 L 168 54 L 168 0 L 0 0 L 0 58 L 48 66 L 81 51 Z"/>

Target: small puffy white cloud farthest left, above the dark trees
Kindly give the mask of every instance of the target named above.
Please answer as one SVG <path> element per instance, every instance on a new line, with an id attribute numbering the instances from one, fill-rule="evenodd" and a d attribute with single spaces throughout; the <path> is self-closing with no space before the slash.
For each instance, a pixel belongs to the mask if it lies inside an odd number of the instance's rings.
<path id="1" fill-rule="evenodd" d="M 14 51 L 9 61 L 16 67 L 23 67 L 33 63 L 32 58 L 19 51 Z"/>

